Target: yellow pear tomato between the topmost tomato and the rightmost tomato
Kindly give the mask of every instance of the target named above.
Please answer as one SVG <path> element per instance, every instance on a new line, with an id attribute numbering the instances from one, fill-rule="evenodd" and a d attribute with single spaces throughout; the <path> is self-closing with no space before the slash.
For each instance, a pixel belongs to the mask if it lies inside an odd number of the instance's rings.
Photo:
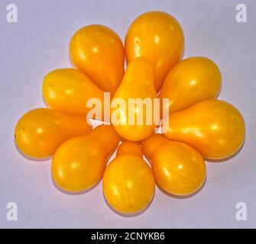
<path id="1" fill-rule="evenodd" d="M 211 59 L 201 56 L 183 59 L 168 72 L 159 98 L 168 98 L 169 113 L 189 108 L 219 94 L 222 75 Z M 162 102 L 160 103 L 163 104 Z"/>

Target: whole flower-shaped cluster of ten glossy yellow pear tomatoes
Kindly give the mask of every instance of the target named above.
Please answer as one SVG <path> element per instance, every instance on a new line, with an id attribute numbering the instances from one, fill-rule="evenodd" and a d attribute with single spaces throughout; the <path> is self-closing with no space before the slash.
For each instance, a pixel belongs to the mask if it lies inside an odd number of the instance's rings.
<path id="1" fill-rule="evenodd" d="M 76 69 L 45 76 L 43 96 L 50 108 L 28 111 L 18 120 L 18 149 L 33 158 L 53 156 L 52 178 L 63 191 L 83 192 L 103 178 L 106 201 L 121 213 L 144 210 L 155 182 L 169 194 L 195 193 L 206 179 L 205 159 L 225 159 L 241 148 L 245 122 L 232 104 L 215 100 L 222 82 L 218 66 L 205 57 L 181 60 L 183 48 L 180 24 L 160 11 L 136 18 L 125 45 L 103 25 L 78 30 L 70 41 Z M 122 123 L 92 130 L 88 101 L 104 104 L 104 92 L 124 101 L 168 98 L 162 105 L 168 116 L 161 114 L 168 123 L 155 133 L 155 124 L 129 124 L 128 111 L 120 109 Z M 148 116 L 141 108 L 134 114 Z"/>

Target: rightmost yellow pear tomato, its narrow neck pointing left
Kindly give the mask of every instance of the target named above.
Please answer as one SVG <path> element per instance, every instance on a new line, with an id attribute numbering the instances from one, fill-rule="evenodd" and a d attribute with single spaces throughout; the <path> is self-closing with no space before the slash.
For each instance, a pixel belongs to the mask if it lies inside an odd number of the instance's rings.
<path id="1" fill-rule="evenodd" d="M 193 146 L 207 159 L 232 156 L 245 140 L 245 120 L 226 101 L 201 101 L 170 114 L 168 122 L 164 122 L 164 136 Z"/>

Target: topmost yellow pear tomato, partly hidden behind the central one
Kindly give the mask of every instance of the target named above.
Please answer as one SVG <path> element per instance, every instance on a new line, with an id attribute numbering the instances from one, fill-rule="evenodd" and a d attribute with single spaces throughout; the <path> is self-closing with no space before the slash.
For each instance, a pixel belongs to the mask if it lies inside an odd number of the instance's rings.
<path id="1" fill-rule="evenodd" d="M 160 11 L 141 14 L 132 22 L 125 37 L 127 62 L 144 56 L 153 66 L 157 92 L 167 72 L 182 58 L 183 49 L 180 24 L 170 14 Z"/>

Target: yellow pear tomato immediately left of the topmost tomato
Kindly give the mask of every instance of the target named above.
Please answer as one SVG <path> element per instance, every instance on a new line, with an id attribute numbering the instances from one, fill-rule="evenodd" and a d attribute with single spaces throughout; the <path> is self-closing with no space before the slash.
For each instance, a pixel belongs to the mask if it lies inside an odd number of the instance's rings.
<path id="1" fill-rule="evenodd" d="M 104 92 L 113 94 L 122 81 L 125 50 L 109 27 L 92 24 L 78 30 L 70 41 L 70 58 Z"/>

